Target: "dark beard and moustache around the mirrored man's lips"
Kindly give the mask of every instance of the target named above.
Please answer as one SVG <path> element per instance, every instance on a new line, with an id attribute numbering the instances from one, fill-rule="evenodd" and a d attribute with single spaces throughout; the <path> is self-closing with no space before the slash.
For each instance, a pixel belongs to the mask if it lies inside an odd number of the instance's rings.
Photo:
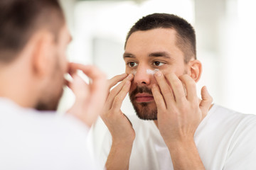
<path id="1" fill-rule="evenodd" d="M 137 103 L 135 96 L 136 94 L 141 93 L 152 95 L 151 89 L 146 86 L 137 86 L 136 89 L 129 94 L 130 101 L 132 102 L 132 106 L 134 107 L 137 116 L 142 120 L 157 120 L 157 108 L 155 103 Z"/>

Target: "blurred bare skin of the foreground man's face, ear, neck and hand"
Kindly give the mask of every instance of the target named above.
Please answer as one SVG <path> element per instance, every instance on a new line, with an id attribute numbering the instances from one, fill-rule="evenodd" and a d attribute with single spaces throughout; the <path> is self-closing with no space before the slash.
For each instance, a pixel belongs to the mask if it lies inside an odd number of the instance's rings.
<path id="1" fill-rule="evenodd" d="M 70 40 L 65 23 L 57 42 L 46 28 L 36 30 L 16 60 L 9 64 L 0 62 L 0 96 L 24 108 L 55 110 L 63 86 L 68 85 L 75 94 L 75 103 L 68 113 L 90 127 L 105 103 L 107 80 L 96 67 L 68 63 L 65 50 Z M 92 84 L 82 81 L 77 70 L 90 77 Z M 73 81 L 66 81 L 64 74 L 70 74 Z"/>

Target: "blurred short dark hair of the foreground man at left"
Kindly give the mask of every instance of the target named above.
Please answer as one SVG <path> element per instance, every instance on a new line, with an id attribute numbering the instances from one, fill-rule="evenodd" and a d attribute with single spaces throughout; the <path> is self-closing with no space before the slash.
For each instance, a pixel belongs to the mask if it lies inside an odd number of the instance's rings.
<path id="1" fill-rule="evenodd" d="M 57 38 L 63 23 L 58 0 L 1 0 L 0 62 L 13 61 L 36 30 L 47 28 Z"/>

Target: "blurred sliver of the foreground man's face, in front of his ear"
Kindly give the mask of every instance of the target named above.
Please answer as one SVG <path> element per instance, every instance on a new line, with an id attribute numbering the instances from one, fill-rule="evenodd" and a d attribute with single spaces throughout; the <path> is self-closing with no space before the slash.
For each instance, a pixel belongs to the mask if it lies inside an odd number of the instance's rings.
<path id="1" fill-rule="evenodd" d="M 50 72 L 42 98 L 36 106 L 38 110 L 56 110 L 58 107 L 65 85 L 64 74 L 68 72 L 68 60 L 65 52 L 70 40 L 68 28 L 63 26 L 58 34 L 58 41 L 53 42 L 53 60 L 50 60 L 51 63 L 48 65 Z"/>

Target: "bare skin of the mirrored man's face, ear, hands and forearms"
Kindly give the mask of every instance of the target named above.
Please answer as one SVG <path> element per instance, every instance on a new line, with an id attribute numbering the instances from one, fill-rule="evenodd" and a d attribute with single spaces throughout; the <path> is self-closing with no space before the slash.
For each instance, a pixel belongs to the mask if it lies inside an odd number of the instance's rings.
<path id="1" fill-rule="evenodd" d="M 132 33 L 125 47 L 124 62 L 127 74 L 134 70 L 137 73 L 125 79 L 119 75 L 109 81 L 109 89 L 122 82 L 110 91 L 102 115 L 112 134 L 107 169 L 129 169 L 135 132 L 120 108 L 127 93 L 131 94 L 137 86 L 152 91 L 152 95 L 139 94 L 147 96 L 135 99 L 133 104 L 142 109 L 140 103 L 144 101 L 150 111 L 157 110 L 154 122 L 169 148 L 174 169 L 204 169 L 193 140 L 212 102 L 206 87 L 201 90 L 202 100 L 196 96 L 201 62 L 191 59 L 184 63 L 183 52 L 176 45 L 176 31 L 171 28 Z M 159 72 L 149 75 L 146 69 L 159 69 Z"/>

